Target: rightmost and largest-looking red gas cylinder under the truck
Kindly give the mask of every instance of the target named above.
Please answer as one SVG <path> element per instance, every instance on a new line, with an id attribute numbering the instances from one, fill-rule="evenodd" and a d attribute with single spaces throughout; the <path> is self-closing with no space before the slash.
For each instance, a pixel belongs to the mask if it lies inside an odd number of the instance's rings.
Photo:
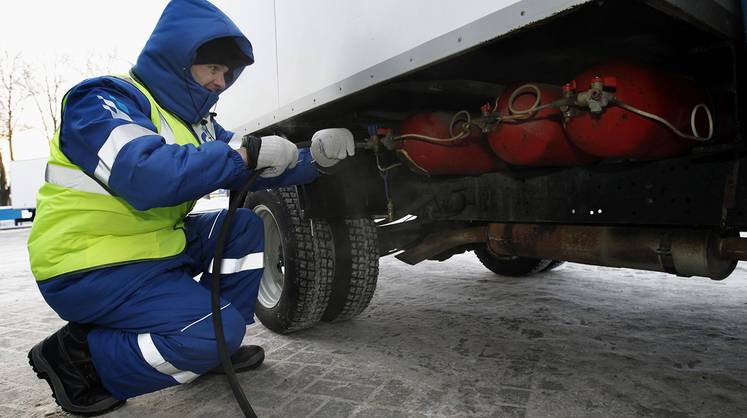
<path id="1" fill-rule="evenodd" d="M 575 78 L 577 91 L 589 89 L 595 78 L 615 80 L 609 90 L 618 100 L 667 120 L 684 134 L 693 134 L 693 109 L 707 102 L 693 80 L 640 64 L 612 62 L 593 67 Z M 699 135 L 708 132 L 708 125 L 705 111 L 696 112 Z M 597 115 L 581 112 L 571 117 L 566 133 L 582 150 L 605 158 L 666 158 L 686 153 L 694 144 L 661 122 L 614 104 Z"/>

